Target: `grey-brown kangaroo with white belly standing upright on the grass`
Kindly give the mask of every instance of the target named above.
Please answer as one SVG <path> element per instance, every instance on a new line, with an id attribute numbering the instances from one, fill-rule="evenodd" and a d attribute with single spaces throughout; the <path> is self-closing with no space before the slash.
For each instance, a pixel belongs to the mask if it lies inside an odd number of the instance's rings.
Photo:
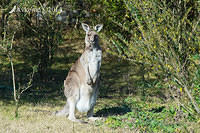
<path id="1" fill-rule="evenodd" d="M 64 94 L 67 102 L 63 110 L 56 112 L 57 116 L 69 115 L 68 119 L 74 122 L 83 122 L 76 119 L 75 109 L 79 112 L 87 112 L 90 120 L 96 120 L 93 117 L 93 109 L 98 96 L 102 60 L 97 32 L 103 28 L 103 25 L 98 24 L 92 30 L 87 24 L 82 23 L 82 28 L 86 32 L 85 50 L 72 65 L 64 80 Z"/>

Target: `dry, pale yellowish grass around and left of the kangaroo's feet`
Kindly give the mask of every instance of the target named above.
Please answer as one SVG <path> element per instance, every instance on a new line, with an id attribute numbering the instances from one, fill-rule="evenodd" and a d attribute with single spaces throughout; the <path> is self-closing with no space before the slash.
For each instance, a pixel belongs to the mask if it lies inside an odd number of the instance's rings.
<path id="1" fill-rule="evenodd" d="M 97 108 L 104 108 L 108 106 L 105 103 L 113 103 L 116 100 L 100 99 Z M 105 102 L 105 103 L 102 103 Z M 56 104 L 58 103 L 58 104 Z M 61 106 L 62 105 L 62 106 Z M 63 107 L 64 102 L 61 100 L 52 103 L 23 103 L 20 107 L 20 115 L 18 118 L 14 117 L 14 103 L 0 102 L 0 132 L 2 133 L 103 133 L 103 132 L 123 132 L 129 131 L 128 129 L 112 129 L 105 126 L 102 122 L 90 122 L 88 124 L 73 123 L 66 117 L 56 117 L 52 113 Z M 85 114 L 77 114 L 80 119 L 87 120 Z"/>

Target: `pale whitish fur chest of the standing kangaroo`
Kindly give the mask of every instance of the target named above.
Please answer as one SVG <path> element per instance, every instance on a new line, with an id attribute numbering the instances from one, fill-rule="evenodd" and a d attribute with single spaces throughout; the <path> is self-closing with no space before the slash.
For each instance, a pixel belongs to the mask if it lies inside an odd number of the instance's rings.
<path id="1" fill-rule="evenodd" d="M 88 56 L 88 65 L 90 75 L 93 77 L 99 70 L 101 66 L 102 51 L 99 49 L 93 49 L 90 51 Z"/>

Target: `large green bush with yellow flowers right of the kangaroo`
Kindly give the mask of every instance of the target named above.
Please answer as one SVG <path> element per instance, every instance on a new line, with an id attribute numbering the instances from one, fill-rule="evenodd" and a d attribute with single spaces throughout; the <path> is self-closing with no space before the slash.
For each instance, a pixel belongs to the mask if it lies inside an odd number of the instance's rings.
<path id="1" fill-rule="evenodd" d="M 184 93 L 179 102 L 200 113 L 197 99 L 190 93 L 199 84 L 195 74 L 199 62 L 194 60 L 200 54 L 199 3 L 129 0 L 124 4 L 123 21 L 110 18 L 118 31 L 110 32 L 113 45 L 108 52 L 142 64 L 144 74 L 156 76 L 175 95 Z M 187 101 L 182 100 L 185 95 Z"/>

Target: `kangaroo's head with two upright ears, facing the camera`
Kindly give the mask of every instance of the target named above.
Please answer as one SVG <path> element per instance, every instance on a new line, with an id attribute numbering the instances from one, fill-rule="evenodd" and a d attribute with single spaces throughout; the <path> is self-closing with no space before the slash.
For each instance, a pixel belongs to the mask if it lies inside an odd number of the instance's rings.
<path id="1" fill-rule="evenodd" d="M 82 23 L 82 27 L 86 32 L 86 36 L 85 36 L 86 47 L 98 46 L 99 36 L 97 32 L 99 32 L 103 28 L 103 25 L 98 24 L 94 26 L 94 29 L 91 29 L 89 25 Z"/>

